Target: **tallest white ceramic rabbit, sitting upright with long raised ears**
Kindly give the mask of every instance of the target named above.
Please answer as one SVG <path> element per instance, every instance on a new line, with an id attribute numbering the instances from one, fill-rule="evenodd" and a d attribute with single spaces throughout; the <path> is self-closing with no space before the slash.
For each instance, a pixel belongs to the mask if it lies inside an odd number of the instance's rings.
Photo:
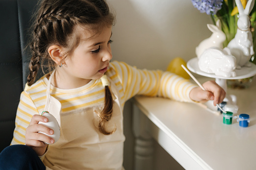
<path id="1" fill-rule="evenodd" d="M 250 31 L 249 14 L 254 6 L 255 0 L 249 0 L 243 9 L 240 0 L 235 0 L 239 19 L 237 20 L 237 31 L 234 39 L 232 39 L 227 47 L 231 50 L 231 54 L 236 58 L 237 68 L 242 66 L 250 66 L 249 60 L 254 54 L 252 35 Z"/>

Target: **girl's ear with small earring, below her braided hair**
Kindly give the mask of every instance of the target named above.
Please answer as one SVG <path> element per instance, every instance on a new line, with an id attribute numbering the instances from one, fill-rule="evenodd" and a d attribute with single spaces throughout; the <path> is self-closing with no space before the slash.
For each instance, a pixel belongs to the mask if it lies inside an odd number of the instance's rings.
<path id="1" fill-rule="evenodd" d="M 61 48 L 58 45 L 52 45 L 48 48 L 48 53 L 51 57 L 51 59 L 57 64 L 60 65 L 60 63 L 63 63 L 64 56 L 63 54 L 63 48 Z"/>

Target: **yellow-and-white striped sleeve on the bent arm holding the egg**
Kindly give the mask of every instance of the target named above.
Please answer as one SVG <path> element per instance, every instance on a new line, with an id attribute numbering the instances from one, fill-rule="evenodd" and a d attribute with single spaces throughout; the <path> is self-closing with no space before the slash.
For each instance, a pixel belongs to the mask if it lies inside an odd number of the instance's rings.
<path id="1" fill-rule="evenodd" d="M 29 126 L 31 118 L 34 114 L 38 114 L 38 110 L 36 109 L 35 104 L 30 98 L 29 94 L 23 91 L 21 93 L 20 103 L 17 109 L 14 137 L 11 145 L 25 144 L 26 128 Z"/>

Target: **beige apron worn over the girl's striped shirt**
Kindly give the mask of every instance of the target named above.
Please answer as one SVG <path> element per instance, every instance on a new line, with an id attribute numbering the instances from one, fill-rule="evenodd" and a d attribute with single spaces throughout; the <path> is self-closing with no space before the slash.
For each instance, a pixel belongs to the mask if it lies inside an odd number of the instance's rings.
<path id="1" fill-rule="evenodd" d="M 54 72 L 47 85 L 45 110 L 57 119 L 60 138 L 49 145 L 44 164 L 51 169 L 122 169 L 125 137 L 120 98 L 115 84 L 108 79 L 114 99 L 113 116 L 108 127 L 116 128 L 116 131 L 111 135 L 104 135 L 95 126 L 98 123 L 97 111 L 103 109 L 104 103 L 62 113 L 61 103 L 50 95 L 53 75 Z"/>

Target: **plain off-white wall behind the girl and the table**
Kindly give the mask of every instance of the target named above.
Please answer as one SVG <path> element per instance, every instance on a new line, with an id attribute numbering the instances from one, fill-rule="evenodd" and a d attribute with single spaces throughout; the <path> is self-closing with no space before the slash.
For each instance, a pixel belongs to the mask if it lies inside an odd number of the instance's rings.
<path id="1" fill-rule="evenodd" d="M 124 61 L 140 69 L 165 70 L 175 57 L 185 61 L 196 57 L 195 47 L 211 35 L 206 14 L 195 9 L 190 0 L 108 0 L 116 12 L 113 28 L 113 60 Z M 124 166 L 133 169 L 131 103 L 124 111 L 126 135 Z M 155 169 L 179 169 L 179 164 L 155 145 Z"/>

